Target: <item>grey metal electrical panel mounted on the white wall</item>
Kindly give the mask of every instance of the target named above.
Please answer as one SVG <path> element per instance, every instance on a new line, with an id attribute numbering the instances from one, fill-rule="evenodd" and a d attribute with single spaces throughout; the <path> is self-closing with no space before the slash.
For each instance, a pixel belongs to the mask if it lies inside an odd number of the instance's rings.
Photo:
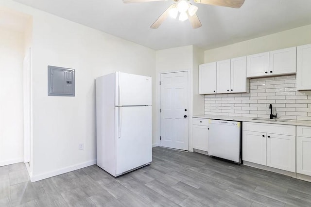
<path id="1" fill-rule="evenodd" d="M 48 96 L 75 96 L 74 69 L 48 65 Z"/>

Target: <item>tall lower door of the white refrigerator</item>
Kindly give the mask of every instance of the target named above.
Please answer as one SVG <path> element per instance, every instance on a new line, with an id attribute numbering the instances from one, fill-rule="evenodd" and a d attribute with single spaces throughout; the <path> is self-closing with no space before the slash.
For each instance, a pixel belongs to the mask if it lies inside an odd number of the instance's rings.
<path id="1" fill-rule="evenodd" d="M 152 161 L 151 106 L 115 107 L 116 176 Z"/>

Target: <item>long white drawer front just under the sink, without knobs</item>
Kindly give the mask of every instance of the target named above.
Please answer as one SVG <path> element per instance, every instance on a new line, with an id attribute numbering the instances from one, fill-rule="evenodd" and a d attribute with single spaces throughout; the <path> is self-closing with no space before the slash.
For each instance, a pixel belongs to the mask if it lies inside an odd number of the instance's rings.
<path id="1" fill-rule="evenodd" d="M 243 130 L 291 136 L 296 135 L 296 127 L 292 125 L 243 122 Z"/>

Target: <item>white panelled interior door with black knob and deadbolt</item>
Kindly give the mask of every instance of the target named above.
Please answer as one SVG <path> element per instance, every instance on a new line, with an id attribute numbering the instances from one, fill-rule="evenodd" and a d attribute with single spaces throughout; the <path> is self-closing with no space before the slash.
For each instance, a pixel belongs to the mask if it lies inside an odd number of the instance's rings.
<path id="1" fill-rule="evenodd" d="M 161 146 L 188 150 L 188 72 L 160 76 Z"/>

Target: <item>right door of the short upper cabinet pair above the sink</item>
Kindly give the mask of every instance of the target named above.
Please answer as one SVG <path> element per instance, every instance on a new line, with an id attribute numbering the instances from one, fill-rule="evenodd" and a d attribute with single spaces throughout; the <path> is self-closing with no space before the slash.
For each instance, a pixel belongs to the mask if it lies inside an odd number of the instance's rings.
<path id="1" fill-rule="evenodd" d="M 286 75 L 296 73 L 296 47 L 269 52 L 269 74 Z"/>

